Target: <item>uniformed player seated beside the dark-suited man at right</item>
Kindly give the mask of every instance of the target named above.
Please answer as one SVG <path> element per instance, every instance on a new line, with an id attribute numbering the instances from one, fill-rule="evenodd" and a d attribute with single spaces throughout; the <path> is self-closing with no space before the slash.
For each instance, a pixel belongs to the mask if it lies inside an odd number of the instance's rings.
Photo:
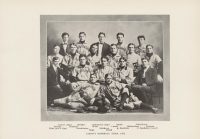
<path id="1" fill-rule="evenodd" d="M 119 59 L 119 67 L 114 71 L 114 80 L 124 84 L 131 84 L 133 82 L 133 69 L 127 67 L 126 58 Z"/>

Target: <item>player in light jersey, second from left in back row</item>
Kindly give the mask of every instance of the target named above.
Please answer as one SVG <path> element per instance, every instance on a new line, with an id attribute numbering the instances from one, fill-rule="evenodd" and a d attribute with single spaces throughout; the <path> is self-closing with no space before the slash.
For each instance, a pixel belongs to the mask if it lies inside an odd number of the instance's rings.
<path id="1" fill-rule="evenodd" d="M 80 32 L 79 33 L 79 42 L 76 44 L 77 45 L 77 52 L 80 55 L 88 56 L 88 54 L 89 54 L 89 46 L 85 42 L 85 39 L 86 39 L 86 33 L 85 32 Z"/>

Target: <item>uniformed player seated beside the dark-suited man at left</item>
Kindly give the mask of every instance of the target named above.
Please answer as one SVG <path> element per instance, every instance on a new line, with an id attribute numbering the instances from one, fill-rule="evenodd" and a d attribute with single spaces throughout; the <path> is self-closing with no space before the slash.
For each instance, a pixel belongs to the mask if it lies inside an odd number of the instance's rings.
<path id="1" fill-rule="evenodd" d="M 89 81 L 90 74 L 93 72 L 92 67 L 86 65 L 86 56 L 80 55 L 80 65 L 75 67 L 72 71 L 72 82 L 76 81 Z"/>

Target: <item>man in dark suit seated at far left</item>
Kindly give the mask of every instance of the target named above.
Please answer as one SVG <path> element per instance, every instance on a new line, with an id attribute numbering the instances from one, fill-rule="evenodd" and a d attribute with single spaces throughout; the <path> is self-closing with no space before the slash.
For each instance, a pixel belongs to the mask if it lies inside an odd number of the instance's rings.
<path id="1" fill-rule="evenodd" d="M 61 84 L 65 82 L 62 70 L 59 68 L 59 57 L 53 57 L 52 65 L 47 68 L 47 105 L 54 99 L 64 97 Z"/>

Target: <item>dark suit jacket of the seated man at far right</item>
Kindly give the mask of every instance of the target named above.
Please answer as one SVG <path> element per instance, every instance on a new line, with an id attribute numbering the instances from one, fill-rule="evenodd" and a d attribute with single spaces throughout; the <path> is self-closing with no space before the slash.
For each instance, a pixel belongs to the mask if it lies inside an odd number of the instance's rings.
<path id="1" fill-rule="evenodd" d="M 143 83 L 143 79 L 142 79 L 142 76 L 143 76 L 143 73 L 144 73 L 144 70 L 141 69 L 139 72 L 138 72 L 138 76 L 136 77 L 135 79 L 135 84 L 138 84 L 138 85 L 142 85 Z M 154 68 L 151 68 L 149 67 L 145 73 L 145 82 L 147 84 L 147 86 L 154 86 L 157 82 L 157 72 Z"/>

